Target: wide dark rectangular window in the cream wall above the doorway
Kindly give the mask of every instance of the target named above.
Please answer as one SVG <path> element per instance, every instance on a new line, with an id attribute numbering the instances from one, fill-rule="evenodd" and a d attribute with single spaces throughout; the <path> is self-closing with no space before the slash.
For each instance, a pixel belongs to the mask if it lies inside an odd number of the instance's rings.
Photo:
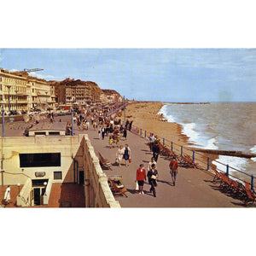
<path id="1" fill-rule="evenodd" d="M 20 167 L 61 166 L 61 153 L 20 154 Z"/>

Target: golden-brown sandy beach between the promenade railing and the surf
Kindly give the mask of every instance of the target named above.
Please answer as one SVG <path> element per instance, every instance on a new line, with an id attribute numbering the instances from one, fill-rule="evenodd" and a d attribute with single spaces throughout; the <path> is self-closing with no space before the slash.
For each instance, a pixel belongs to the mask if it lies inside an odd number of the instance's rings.
<path id="1" fill-rule="evenodd" d="M 189 143 L 189 137 L 182 134 L 182 126 L 177 123 L 160 120 L 162 116 L 158 113 L 164 105 L 165 103 L 163 102 L 131 102 L 125 110 L 126 120 L 133 121 L 132 125 L 143 129 L 143 132 L 147 131 L 147 137 L 152 132 L 154 135 L 160 137 L 161 143 L 162 138 L 165 138 L 165 143 L 169 147 L 172 142 L 176 153 L 183 146 L 183 153 L 191 156 L 191 151 L 186 148 L 193 149 L 193 144 Z M 122 111 L 123 119 L 124 112 Z M 210 156 L 211 162 L 212 160 L 218 159 L 218 154 L 200 154 L 196 154 L 195 157 L 204 168 L 207 167 L 207 156 Z M 211 166 L 214 167 L 212 164 Z"/>

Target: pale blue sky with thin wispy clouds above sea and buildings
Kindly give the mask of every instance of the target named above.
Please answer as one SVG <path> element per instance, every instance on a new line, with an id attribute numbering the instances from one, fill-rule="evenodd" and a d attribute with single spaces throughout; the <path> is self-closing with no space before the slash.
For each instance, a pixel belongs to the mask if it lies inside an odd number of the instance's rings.
<path id="1" fill-rule="evenodd" d="M 255 102 L 256 49 L 0 49 L 0 67 L 96 82 L 129 99 Z"/>

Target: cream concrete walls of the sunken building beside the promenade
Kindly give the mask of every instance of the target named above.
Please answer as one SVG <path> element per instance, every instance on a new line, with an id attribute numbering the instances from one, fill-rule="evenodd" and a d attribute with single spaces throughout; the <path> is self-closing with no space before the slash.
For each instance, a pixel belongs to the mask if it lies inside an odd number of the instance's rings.
<path id="1" fill-rule="evenodd" d="M 20 153 L 61 153 L 61 166 L 20 167 Z M 1 137 L 0 185 L 25 184 L 27 180 L 49 179 L 49 183 L 79 183 L 79 172 L 84 172 L 85 207 L 120 207 L 108 186 L 108 177 L 96 157 L 87 135 L 74 137 Z M 44 172 L 44 177 L 36 177 Z M 54 179 L 54 172 L 62 172 L 62 179 Z M 26 185 L 23 188 L 31 186 Z M 29 195 L 20 192 L 24 199 Z M 49 196 L 49 188 L 47 188 Z M 19 199 L 20 200 L 20 199 Z M 48 198 L 46 199 L 48 201 Z M 25 202 L 20 202 L 25 206 Z"/>

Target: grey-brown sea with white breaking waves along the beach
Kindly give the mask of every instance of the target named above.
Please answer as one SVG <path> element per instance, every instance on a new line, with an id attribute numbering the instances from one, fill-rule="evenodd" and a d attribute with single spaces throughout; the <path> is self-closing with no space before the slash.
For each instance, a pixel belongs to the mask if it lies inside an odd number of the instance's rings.
<path id="1" fill-rule="evenodd" d="M 256 154 L 256 102 L 166 103 L 159 113 L 168 122 L 182 125 L 183 134 L 195 148 Z M 256 177 L 256 157 L 219 155 L 212 163 L 224 172 L 224 165 L 229 165 L 230 174 L 236 177 L 240 177 L 237 170 Z"/>

